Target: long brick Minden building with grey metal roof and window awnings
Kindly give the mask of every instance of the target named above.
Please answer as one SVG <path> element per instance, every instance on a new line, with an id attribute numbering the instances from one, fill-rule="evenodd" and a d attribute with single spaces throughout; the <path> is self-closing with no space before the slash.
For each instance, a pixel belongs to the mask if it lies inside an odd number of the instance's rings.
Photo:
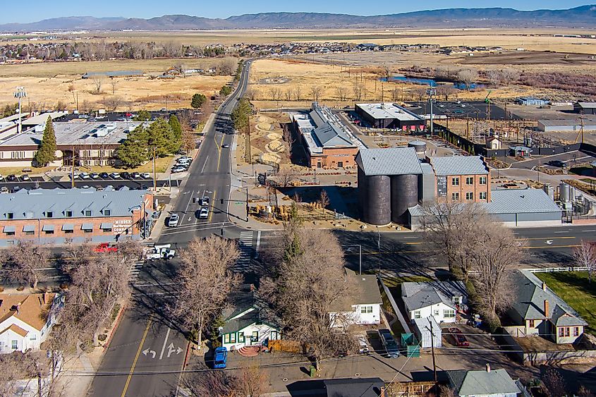
<path id="1" fill-rule="evenodd" d="M 0 246 L 140 239 L 153 214 L 147 190 L 106 188 L 19 190 L 0 195 Z"/>

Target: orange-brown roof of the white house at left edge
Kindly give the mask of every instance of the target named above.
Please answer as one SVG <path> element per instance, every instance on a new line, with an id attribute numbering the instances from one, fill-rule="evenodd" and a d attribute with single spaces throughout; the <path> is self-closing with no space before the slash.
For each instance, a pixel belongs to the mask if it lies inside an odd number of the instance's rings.
<path id="1" fill-rule="evenodd" d="M 46 323 L 42 313 L 51 307 L 55 293 L 33 293 L 30 295 L 16 295 L 11 293 L 0 294 L 0 323 L 11 317 L 20 319 L 41 331 Z M 16 310 L 18 307 L 18 311 Z"/>

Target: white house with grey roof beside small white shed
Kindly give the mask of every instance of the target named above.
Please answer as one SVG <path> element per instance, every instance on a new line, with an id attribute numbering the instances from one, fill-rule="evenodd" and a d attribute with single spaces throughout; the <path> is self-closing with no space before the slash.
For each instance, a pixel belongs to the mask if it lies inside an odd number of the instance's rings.
<path id="1" fill-rule="evenodd" d="M 456 322 L 458 307 L 468 303 L 468 293 L 461 281 L 402 283 L 401 299 L 410 319 L 432 316 L 440 324 Z"/>

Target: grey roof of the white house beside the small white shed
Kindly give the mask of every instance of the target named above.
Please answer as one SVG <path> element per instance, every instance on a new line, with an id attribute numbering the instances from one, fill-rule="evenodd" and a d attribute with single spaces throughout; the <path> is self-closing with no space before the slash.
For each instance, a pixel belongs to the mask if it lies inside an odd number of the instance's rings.
<path id="1" fill-rule="evenodd" d="M 408 310 L 444 303 L 456 308 L 453 298 L 467 297 L 466 286 L 461 281 L 407 282 L 401 284 L 401 297 Z"/>

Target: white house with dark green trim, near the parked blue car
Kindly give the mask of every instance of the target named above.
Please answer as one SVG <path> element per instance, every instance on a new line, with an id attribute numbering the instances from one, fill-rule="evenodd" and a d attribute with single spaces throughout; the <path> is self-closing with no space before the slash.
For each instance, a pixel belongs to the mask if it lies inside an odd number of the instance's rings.
<path id="1" fill-rule="evenodd" d="M 279 319 L 267 303 L 257 298 L 252 286 L 234 293 L 230 309 L 224 311 L 226 324 L 221 330 L 222 346 L 237 350 L 245 346 L 267 346 L 281 338 Z"/>

